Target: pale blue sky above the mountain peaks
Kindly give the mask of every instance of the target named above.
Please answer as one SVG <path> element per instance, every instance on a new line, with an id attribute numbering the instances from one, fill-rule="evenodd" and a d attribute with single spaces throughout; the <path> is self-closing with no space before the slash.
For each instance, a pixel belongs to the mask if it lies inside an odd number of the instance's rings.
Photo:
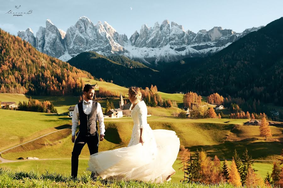
<path id="1" fill-rule="evenodd" d="M 57 28 L 66 31 L 80 17 L 87 16 L 94 24 L 107 21 L 128 38 L 135 30 L 139 32 L 142 24 L 153 27 L 155 22 L 161 24 L 165 19 L 195 33 L 214 26 L 242 32 L 282 17 L 282 8 L 282 0 L 2 0 L 0 28 L 14 35 L 18 30 L 31 28 L 36 35 L 39 26 L 45 27 L 46 19 L 50 19 Z M 5 14 L 9 10 L 32 10 L 32 13 L 16 17 Z"/>

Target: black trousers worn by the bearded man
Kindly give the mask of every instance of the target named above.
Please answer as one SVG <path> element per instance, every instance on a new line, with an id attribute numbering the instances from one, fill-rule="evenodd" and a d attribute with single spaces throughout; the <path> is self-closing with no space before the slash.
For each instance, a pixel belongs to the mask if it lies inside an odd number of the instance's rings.
<path id="1" fill-rule="evenodd" d="M 88 144 L 89 153 L 96 154 L 98 153 L 98 144 L 99 144 L 99 136 L 96 132 L 95 135 L 82 135 L 80 132 L 78 133 L 78 137 L 75 140 L 73 152 L 72 152 L 72 172 L 71 176 L 76 177 L 78 174 L 78 164 L 79 164 L 79 155 L 81 154 L 82 148 L 85 144 Z"/>

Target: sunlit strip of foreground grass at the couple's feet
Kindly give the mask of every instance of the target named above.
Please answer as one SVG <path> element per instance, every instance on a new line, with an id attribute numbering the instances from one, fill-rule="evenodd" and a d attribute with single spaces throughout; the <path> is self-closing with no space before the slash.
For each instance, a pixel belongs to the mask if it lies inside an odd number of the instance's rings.
<path id="1" fill-rule="evenodd" d="M 123 188 L 235 188 L 236 186 L 228 183 L 219 185 L 204 185 L 194 182 L 175 182 L 173 180 L 161 184 L 144 183 L 140 181 L 104 181 L 98 178 L 93 181 L 90 175 L 84 173 L 78 176 L 77 180 L 72 180 L 70 175 L 61 175 L 52 172 L 39 173 L 38 171 L 11 171 L 0 168 L 0 186 L 1 187 L 123 187 Z"/>

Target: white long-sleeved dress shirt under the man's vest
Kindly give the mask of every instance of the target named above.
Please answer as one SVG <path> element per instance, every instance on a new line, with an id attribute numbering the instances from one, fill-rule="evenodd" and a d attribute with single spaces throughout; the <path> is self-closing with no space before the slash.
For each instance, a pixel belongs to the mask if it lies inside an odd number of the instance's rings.
<path id="1" fill-rule="evenodd" d="M 85 114 L 88 115 L 91 112 L 93 101 L 89 100 L 88 102 L 90 102 L 90 104 L 84 104 L 84 102 L 86 101 L 83 100 L 82 102 L 82 110 Z M 102 108 L 99 102 L 97 102 L 96 114 L 97 114 L 97 119 L 99 122 L 100 134 L 105 135 L 104 134 L 105 133 L 104 117 L 103 117 Z M 72 116 L 72 135 L 75 135 L 78 124 L 79 124 L 79 108 L 78 108 L 78 105 L 76 104 L 74 112 L 73 112 L 73 116 Z"/>

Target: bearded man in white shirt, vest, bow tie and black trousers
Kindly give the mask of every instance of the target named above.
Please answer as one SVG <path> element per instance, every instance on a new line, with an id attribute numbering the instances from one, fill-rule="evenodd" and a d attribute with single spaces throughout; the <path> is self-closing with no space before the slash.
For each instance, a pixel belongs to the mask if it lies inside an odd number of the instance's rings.
<path id="1" fill-rule="evenodd" d="M 98 153 L 99 140 L 103 141 L 105 133 L 104 118 L 101 105 L 93 101 L 94 87 L 86 84 L 83 88 L 84 100 L 76 104 L 72 116 L 72 142 L 74 144 L 72 152 L 72 172 L 71 176 L 76 178 L 78 173 L 79 155 L 85 144 L 88 144 L 89 153 Z M 76 133 L 76 128 L 80 120 L 79 132 Z M 96 121 L 99 122 L 100 139 L 97 132 Z M 77 138 L 75 139 L 75 133 Z M 96 179 L 94 173 L 91 174 L 93 180 Z"/>

